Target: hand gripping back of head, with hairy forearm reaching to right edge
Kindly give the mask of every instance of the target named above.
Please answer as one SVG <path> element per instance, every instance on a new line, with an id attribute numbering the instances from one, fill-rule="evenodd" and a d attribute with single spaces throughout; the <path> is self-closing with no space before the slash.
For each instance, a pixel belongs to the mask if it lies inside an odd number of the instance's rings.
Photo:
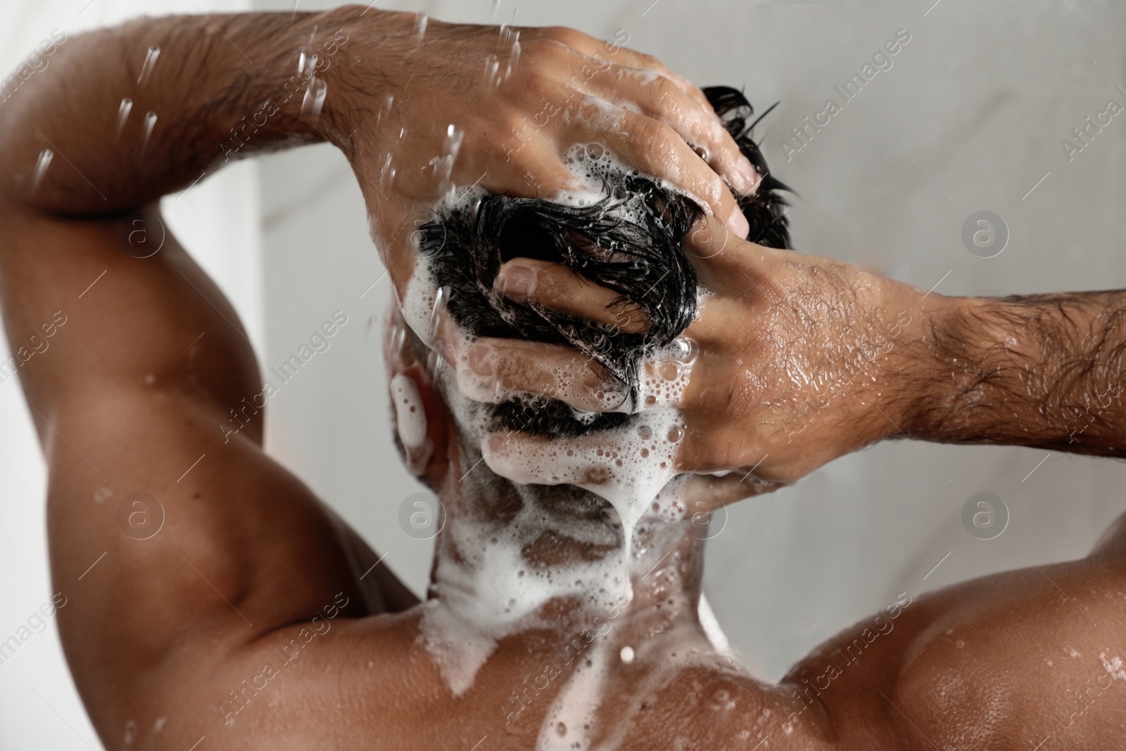
<path id="1" fill-rule="evenodd" d="M 887 437 L 1126 454 L 1123 293 L 945 297 L 741 241 L 711 220 L 686 245 L 707 294 L 682 334 L 695 359 L 671 403 L 686 423 L 677 462 L 688 473 L 730 471 L 713 485 L 724 498 L 794 482 Z M 646 325 L 562 266 L 513 259 L 498 286 L 611 329 Z M 457 361 L 467 378 L 586 411 L 605 411 L 614 388 L 566 347 L 483 339 Z M 658 378 L 685 368 L 644 367 Z M 660 405 L 642 401 L 642 411 Z M 572 448 L 597 455 L 605 441 L 593 433 Z M 512 435 L 489 450 L 557 450 L 548 442 Z"/>

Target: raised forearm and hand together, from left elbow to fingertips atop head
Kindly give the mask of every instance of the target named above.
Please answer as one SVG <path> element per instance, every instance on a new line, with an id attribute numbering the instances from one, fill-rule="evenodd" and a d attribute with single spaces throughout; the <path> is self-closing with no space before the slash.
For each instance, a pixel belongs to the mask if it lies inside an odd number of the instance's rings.
<path id="1" fill-rule="evenodd" d="M 597 189 L 564 162 L 577 144 L 668 179 L 740 236 L 747 221 L 720 175 L 740 193 L 759 181 L 699 89 L 568 28 L 422 24 L 361 6 L 171 17 L 77 37 L 53 68 L 0 111 L 8 197 L 120 213 L 233 159 L 329 141 L 357 175 L 400 293 L 412 235 L 448 191 Z"/>

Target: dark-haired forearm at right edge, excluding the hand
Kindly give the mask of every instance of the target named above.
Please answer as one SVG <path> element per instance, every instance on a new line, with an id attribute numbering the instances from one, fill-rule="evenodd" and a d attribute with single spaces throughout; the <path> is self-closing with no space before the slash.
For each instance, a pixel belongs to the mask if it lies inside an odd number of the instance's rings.
<path id="1" fill-rule="evenodd" d="M 1126 456 L 1126 293 L 940 299 L 904 372 L 906 435 Z"/>

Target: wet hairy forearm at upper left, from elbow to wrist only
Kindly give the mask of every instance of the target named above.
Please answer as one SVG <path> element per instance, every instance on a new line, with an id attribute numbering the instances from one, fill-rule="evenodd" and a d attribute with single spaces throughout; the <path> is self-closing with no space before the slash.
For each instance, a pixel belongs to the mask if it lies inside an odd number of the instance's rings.
<path id="1" fill-rule="evenodd" d="M 336 83 L 342 24 L 314 14 L 215 19 L 144 18 L 71 38 L 57 72 L 2 108 L 0 189 L 48 212 L 106 215 L 279 142 L 347 135 L 339 96 L 301 116 L 314 73 Z M 298 71 L 302 50 L 320 56 Z"/>

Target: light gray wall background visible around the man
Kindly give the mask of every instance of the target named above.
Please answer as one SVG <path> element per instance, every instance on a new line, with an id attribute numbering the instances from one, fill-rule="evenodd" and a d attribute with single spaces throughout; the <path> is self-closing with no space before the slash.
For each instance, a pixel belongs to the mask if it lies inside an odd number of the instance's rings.
<path id="1" fill-rule="evenodd" d="M 8 29 L 0 62 L 15 65 L 52 27 L 70 32 L 142 10 L 195 12 L 186 0 L 96 0 L 78 17 L 84 5 L 9 0 L 0 7 L 0 29 Z M 1108 99 L 1126 105 L 1117 88 L 1126 88 L 1120 5 L 448 0 L 394 7 L 467 23 L 515 16 L 518 24 L 569 25 L 600 37 L 624 28 L 629 46 L 700 84 L 745 87 L 759 109 L 780 101 L 759 135 L 775 173 L 799 194 L 790 217 L 802 250 L 923 288 L 941 280 L 937 292 L 946 294 L 1126 281 L 1123 220 L 1115 211 L 1124 199 L 1126 113 L 1071 162 L 1060 143 Z M 911 42 L 892 69 L 787 161 L 780 140 L 789 128 L 826 98 L 840 101 L 833 87 L 901 28 Z M 332 311 L 348 313 L 332 348 L 270 401 L 267 444 L 421 592 L 429 545 L 403 534 L 396 520 L 400 502 L 418 485 L 391 444 L 379 349 L 390 285 L 379 279 L 347 163 L 328 146 L 272 155 L 166 206 L 248 322 L 263 367 L 293 354 Z M 992 259 L 975 258 L 960 240 L 963 222 L 983 209 L 998 213 L 1011 235 Z M 5 638 L 50 589 L 42 461 L 15 382 L 0 385 L 0 415 Z M 1123 477 L 1121 465 L 1109 461 L 886 442 L 733 507 L 711 544 L 706 591 L 747 663 L 774 679 L 900 592 L 915 596 L 1029 561 L 1085 554 L 1126 507 L 1115 491 Z M 1002 498 L 1011 515 L 992 540 L 971 536 L 960 521 L 965 501 L 983 491 Z M 52 626 L 0 665 L 0 749 L 83 743 L 97 746 Z"/>

